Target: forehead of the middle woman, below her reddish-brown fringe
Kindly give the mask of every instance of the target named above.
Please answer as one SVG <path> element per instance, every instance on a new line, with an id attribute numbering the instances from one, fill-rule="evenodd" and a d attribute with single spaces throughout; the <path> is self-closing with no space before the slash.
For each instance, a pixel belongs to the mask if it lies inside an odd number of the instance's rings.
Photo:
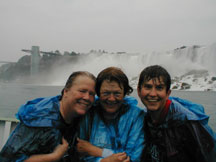
<path id="1" fill-rule="evenodd" d="M 101 84 L 101 90 L 123 90 L 123 86 L 116 81 L 104 80 Z"/>

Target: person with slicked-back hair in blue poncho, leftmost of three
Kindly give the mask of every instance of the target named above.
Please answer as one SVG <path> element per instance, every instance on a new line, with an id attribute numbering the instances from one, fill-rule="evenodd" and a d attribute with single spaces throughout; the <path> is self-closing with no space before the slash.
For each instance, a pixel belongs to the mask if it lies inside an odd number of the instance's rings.
<path id="1" fill-rule="evenodd" d="M 94 97 L 95 77 L 78 71 L 70 75 L 62 95 L 22 105 L 17 113 L 20 123 L 2 148 L 0 161 L 76 161 L 73 148 L 79 116 L 92 106 Z"/>

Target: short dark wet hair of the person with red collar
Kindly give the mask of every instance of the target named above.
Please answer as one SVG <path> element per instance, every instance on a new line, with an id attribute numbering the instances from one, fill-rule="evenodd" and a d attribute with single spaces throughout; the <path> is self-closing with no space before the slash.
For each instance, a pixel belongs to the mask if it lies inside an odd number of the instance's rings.
<path id="1" fill-rule="evenodd" d="M 171 85 L 171 77 L 166 69 L 164 69 L 162 66 L 159 65 L 152 65 L 146 67 L 139 76 L 139 82 L 138 82 L 138 89 L 141 89 L 142 84 L 146 81 L 149 81 L 151 79 L 158 79 L 160 81 L 160 77 L 162 77 L 165 85 L 166 85 L 166 91 L 170 89 Z"/>

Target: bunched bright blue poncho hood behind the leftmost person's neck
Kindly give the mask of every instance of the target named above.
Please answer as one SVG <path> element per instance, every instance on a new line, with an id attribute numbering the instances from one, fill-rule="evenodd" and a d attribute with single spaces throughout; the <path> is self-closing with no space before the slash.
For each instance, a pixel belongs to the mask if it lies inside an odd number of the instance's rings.
<path id="1" fill-rule="evenodd" d="M 30 127 L 57 127 L 60 119 L 60 97 L 58 95 L 28 101 L 19 108 L 16 118 Z"/>

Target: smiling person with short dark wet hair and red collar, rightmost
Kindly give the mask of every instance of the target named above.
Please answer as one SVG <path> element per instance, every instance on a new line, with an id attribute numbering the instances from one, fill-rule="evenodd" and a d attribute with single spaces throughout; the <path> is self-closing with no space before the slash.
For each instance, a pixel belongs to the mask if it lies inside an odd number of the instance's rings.
<path id="1" fill-rule="evenodd" d="M 138 95 L 147 108 L 142 162 L 215 162 L 215 134 L 201 105 L 169 98 L 171 78 L 161 66 L 145 68 Z"/>

